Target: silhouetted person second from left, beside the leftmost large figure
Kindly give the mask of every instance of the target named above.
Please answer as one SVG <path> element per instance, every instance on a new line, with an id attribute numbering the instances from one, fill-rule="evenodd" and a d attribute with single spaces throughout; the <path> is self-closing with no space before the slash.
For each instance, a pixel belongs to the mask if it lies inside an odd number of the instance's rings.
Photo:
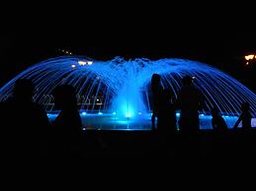
<path id="1" fill-rule="evenodd" d="M 54 102 L 60 112 L 52 122 L 55 149 L 59 155 L 79 155 L 82 136 L 82 122 L 77 109 L 73 87 L 61 85 L 54 90 Z"/>

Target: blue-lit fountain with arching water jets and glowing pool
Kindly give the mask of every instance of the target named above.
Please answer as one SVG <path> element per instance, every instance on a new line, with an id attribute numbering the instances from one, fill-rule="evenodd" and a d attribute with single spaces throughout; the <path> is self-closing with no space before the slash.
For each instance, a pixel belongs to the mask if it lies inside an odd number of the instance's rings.
<path id="1" fill-rule="evenodd" d="M 0 100 L 11 95 L 16 80 L 32 79 L 37 89 L 34 99 L 44 105 L 51 119 L 56 115 L 52 91 L 58 85 L 69 84 L 76 90 L 86 127 L 149 129 L 150 79 L 153 73 L 162 76 L 163 87 L 174 96 L 177 96 L 185 75 L 195 77 L 195 86 L 206 97 L 206 107 L 200 115 L 202 119 L 210 117 L 209 111 L 216 106 L 226 119 L 232 118 L 231 126 L 245 101 L 249 102 L 256 117 L 256 96 L 251 91 L 212 66 L 184 59 L 152 61 L 116 57 L 97 61 L 75 56 L 48 59 L 25 70 L 1 88 Z"/>

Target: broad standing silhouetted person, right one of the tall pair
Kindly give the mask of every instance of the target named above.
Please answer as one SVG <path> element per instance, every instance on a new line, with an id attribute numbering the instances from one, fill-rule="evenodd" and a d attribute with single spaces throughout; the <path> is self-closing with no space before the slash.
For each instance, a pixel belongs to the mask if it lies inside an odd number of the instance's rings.
<path id="1" fill-rule="evenodd" d="M 199 131 L 199 110 L 203 108 L 203 104 L 203 95 L 193 85 L 192 77 L 185 76 L 183 78 L 183 87 L 177 98 L 177 106 L 181 109 L 179 120 L 181 131 Z"/>

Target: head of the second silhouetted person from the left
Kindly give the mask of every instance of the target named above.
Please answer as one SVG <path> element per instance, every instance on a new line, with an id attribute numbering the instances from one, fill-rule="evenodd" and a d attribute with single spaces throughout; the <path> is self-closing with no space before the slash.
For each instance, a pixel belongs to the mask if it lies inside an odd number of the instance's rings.
<path id="1" fill-rule="evenodd" d="M 76 95 L 72 86 L 61 85 L 58 86 L 54 92 L 54 102 L 57 108 L 69 109 L 76 107 Z"/>

